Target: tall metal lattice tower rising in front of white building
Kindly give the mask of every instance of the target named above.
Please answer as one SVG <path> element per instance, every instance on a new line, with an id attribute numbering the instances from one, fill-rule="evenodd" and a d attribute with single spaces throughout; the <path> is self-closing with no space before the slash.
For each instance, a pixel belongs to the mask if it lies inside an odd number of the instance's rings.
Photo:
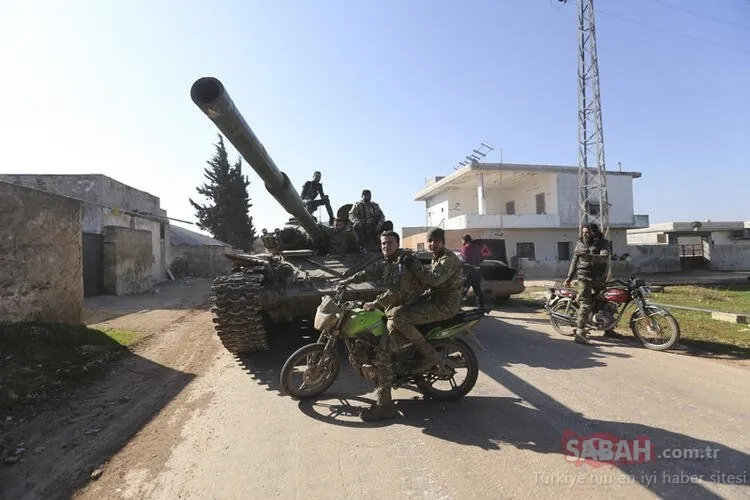
<path id="1" fill-rule="evenodd" d="M 609 239 L 594 0 L 578 0 L 578 143 L 578 228 L 596 222 Z"/>

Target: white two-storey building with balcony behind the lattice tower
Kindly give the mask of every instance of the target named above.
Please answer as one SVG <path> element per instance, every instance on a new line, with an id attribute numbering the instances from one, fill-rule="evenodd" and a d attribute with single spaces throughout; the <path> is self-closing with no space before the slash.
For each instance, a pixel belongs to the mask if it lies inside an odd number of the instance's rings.
<path id="1" fill-rule="evenodd" d="M 641 174 L 606 176 L 610 239 L 613 252 L 622 254 L 626 231 L 649 225 L 647 215 L 633 213 L 633 179 Z M 578 193 L 577 167 L 473 163 L 430 179 L 417 193 L 415 201 L 425 202 L 425 226 L 403 228 L 403 246 L 423 248 L 427 228 L 439 226 L 449 248 L 460 248 L 463 235 L 470 234 L 504 240 L 514 266 L 524 267 L 523 259 L 537 267 L 567 262 L 578 237 Z M 597 204 L 592 198 L 591 210 Z"/>

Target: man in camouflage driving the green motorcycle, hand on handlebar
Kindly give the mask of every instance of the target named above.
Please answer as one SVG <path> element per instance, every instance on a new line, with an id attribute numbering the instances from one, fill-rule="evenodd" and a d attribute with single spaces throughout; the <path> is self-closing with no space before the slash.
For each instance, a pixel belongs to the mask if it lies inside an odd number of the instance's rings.
<path id="1" fill-rule="evenodd" d="M 399 248 L 400 240 L 398 233 L 394 231 L 383 232 L 380 235 L 380 249 L 383 253 L 383 260 L 339 282 L 341 285 L 347 285 L 349 283 L 382 280 L 387 288 L 386 291 L 378 295 L 372 302 L 365 303 L 364 308 L 368 311 L 375 308 L 382 309 L 388 318 L 390 318 L 394 308 L 397 309 L 402 305 L 417 302 L 425 291 L 425 286 L 414 272 L 400 263 L 404 256 L 408 255 L 407 251 Z M 366 422 L 395 418 L 399 415 L 391 397 L 393 354 L 389 344 L 393 341 L 392 331 L 392 327 L 389 327 L 389 334 L 380 339 L 380 345 L 375 351 L 373 369 L 377 384 L 377 400 L 374 405 L 362 412 L 361 418 Z M 424 337 L 422 337 L 422 340 L 424 340 Z M 363 368 L 367 369 L 366 366 Z"/>

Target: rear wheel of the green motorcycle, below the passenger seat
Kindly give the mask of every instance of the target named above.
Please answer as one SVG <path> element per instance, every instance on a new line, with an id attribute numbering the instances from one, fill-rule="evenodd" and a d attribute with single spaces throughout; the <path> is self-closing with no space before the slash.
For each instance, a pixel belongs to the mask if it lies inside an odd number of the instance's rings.
<path id="1" fill-rule="evenodd" d="M 469 345 L 460 339 L 443 340 L 432 344 L 440 354 L 437 367 L 415 377 L 420 392 L 426 398 L 438 401 L 457 401 L 474 388 L 479 376 L 479 360 Z M 456 382 L 459 372 L 465 372 L 461 383 Z M 442 388 L 446 385 L 446 388 Z"/>

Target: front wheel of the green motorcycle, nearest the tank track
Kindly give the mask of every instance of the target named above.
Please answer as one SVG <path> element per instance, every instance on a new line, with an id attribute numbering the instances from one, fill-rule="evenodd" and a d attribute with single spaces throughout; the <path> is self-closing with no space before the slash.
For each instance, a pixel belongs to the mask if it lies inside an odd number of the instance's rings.
<path id="1" fill-rule="evenodd" d="M 294 351 L 281 368 L 279 378 L 286 394 L 296 399 L 308 399 L 320 396 L 331 387 L 340 370 L 341 363 L 336 353 L 328 353 L 325 344 L 315 343 Z"/>

